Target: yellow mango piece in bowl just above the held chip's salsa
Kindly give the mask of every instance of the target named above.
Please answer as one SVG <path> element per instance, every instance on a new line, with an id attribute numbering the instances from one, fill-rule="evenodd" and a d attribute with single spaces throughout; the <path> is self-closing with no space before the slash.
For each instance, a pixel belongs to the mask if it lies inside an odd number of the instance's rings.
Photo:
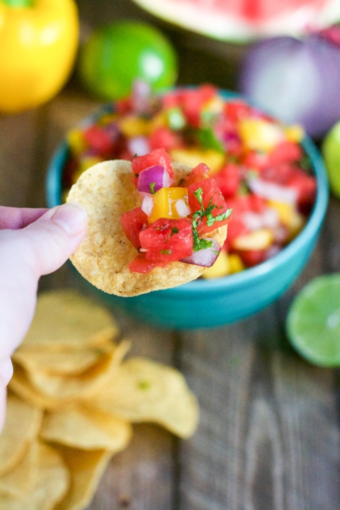
<path id="1" fill-rule="evenodd" d="M 222 152 L 213 149 L 175 148 L 169 150 L 169 153 L 173 161 L 179 161 L 192 168 L 199 163 L 205 163 L 210 168 L 209 175 L 221 170 L 225 160 L 225 155 Z"/>

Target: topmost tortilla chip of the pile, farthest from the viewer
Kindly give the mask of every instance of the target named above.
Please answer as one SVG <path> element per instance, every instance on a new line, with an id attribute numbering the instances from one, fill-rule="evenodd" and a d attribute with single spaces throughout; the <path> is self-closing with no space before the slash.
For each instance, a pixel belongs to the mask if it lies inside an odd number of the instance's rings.
<path id="1" fill-rule="evenodd" d="M 46 291 L 38 297 L 33 322 L 18 350 L 85 349 L 107 343 L 117 333 L 113 315 L 94 299 L 73 290 Z"/>

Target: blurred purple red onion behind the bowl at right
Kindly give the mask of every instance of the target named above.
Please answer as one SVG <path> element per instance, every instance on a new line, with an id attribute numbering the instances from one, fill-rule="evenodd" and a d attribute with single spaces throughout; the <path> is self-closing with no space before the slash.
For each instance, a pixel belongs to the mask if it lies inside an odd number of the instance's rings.
<path id="1" fill-rule="evenodd" d="M 320 139 L 340 118 L 340 47 L 317 34 L 255 43 L 241 63 L 239 88 L 256 106 Z"/>

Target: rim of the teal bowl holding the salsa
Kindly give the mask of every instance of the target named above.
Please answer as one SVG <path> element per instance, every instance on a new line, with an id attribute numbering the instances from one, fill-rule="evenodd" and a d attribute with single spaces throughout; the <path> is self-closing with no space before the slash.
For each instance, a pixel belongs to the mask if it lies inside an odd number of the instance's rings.
<path id="1" fill-rule="evenodd" d="M 179 86 L 177 88 L 189 87 L 192 88 L 192 86 Z M 238 92 L 221 88 L 218 88 L 218 91 L 225 98 L 239 97 L 244 98 L 250 104 L 252 103 L 243 94 Z M 100 115 L 107 111 L 108 107 L 112 107 L 112 105 L 113 104 L 102 105 L 92 115 L 82 119 L 78 125 L 85 125 L 88 122 L 95 121 L 96 118 L 100 117 Z M 261 109 L 261 111 L 263 111 L 263 109 Z M 249 285 L 249 281 L 257 281 L 263 275 L 270 273 L 273 269 L 279 267 L 285 261 L 290 260 L 300 249 L 303 248 L 307 241 L 318 234 L 327 212 L 329 199 L 328 176 L 321 153 L 312 139 L 308 135 L 305 135 L 301 145 L 305 149 L 310 159 L 313 172 L 317 179 L 316 200 L 303 230 L 289 244 L 287 244 L 287 246 L 282 248 L 273 257 L 253 267 L 243 269 L 238 273 L 228 274 L 218 278 L 197 279 L 193 282 L 188 282 L 178 287 L 173 287 L 164 291 L 161 290 L 157 292 L 167 292 L 171 294 L 196 294 L 197 291 L 209 292 L 219 289 L 222 290 L 225 288 L 232 290 L 234 288 L 239 288 L 240 286 L 243 287 L 245 285 Z M 61 177 L 67 157 L 68 143 L 67 140 L 64 139 L 55 150 L 53 157 L 50 160 L 46 174 L 45 193 L 48 207 L 54 207 L 61 203 Z"/>

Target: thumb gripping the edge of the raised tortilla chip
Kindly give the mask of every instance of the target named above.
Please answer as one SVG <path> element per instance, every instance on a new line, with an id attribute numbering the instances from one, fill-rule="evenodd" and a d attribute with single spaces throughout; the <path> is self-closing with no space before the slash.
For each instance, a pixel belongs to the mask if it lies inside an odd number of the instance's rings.
<path id="1" fill-rule="evenodd" d="M 56 271 L 85 237 L 87 215 L 77 203 L 48 210 L 21 230 L 22 242 L 32 257 L 38 276 Z"/>

